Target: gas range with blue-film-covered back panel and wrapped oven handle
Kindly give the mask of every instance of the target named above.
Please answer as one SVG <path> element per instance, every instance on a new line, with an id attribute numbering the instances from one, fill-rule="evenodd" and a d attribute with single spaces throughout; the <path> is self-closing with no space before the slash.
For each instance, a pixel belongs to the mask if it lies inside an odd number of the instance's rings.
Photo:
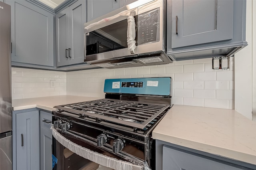
<path id="1" fill-rule="evenodd" d="M 54 107 L 55 168 L 155 169 L 152 130 L 171 107 L 172 78 L 106 79 L 104 92 L 105 99 Z"/>

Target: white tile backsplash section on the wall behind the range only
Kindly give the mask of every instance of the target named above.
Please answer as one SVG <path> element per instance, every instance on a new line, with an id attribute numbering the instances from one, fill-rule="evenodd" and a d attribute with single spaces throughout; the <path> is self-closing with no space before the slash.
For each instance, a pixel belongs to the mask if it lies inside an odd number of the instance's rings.
<path id="1" fill-rule="evenodd" d="M 229 71 L 212 70 L 212 59 L 174 61 L 168 65 L 67 72 L 67 95 L 104 98 L 104 79 L 172 77 L 173 103 L 234 109 L 234 63 Z"/>

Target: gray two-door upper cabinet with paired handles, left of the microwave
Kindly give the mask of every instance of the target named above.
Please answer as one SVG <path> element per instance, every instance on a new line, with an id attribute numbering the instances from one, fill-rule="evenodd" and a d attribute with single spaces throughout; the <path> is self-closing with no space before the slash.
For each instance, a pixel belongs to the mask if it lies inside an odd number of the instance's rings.
<path id="1" fill-rule="evenodd" d="M 86 4 L 78 0 L 55 16 L 56 66 L 84 62 L 84 23 Z"/>

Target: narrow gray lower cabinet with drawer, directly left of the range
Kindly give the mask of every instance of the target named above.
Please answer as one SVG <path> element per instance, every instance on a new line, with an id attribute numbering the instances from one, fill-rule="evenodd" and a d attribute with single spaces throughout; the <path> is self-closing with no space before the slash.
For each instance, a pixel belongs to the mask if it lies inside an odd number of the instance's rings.
<path id="1" fill-rule="evenodd" d="M 40 111 L 40 167 L 52 170 L 52 123 L 51 112 Z"/>

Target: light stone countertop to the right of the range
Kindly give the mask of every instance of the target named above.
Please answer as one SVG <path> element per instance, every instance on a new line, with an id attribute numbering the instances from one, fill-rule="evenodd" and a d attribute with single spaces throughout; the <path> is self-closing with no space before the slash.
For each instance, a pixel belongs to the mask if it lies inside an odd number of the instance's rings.
<path id="1" fill-rule="evenodd" d="M 174 105 L 152 137 L 256 164 L 256 122 L 234 110 Z"/>

